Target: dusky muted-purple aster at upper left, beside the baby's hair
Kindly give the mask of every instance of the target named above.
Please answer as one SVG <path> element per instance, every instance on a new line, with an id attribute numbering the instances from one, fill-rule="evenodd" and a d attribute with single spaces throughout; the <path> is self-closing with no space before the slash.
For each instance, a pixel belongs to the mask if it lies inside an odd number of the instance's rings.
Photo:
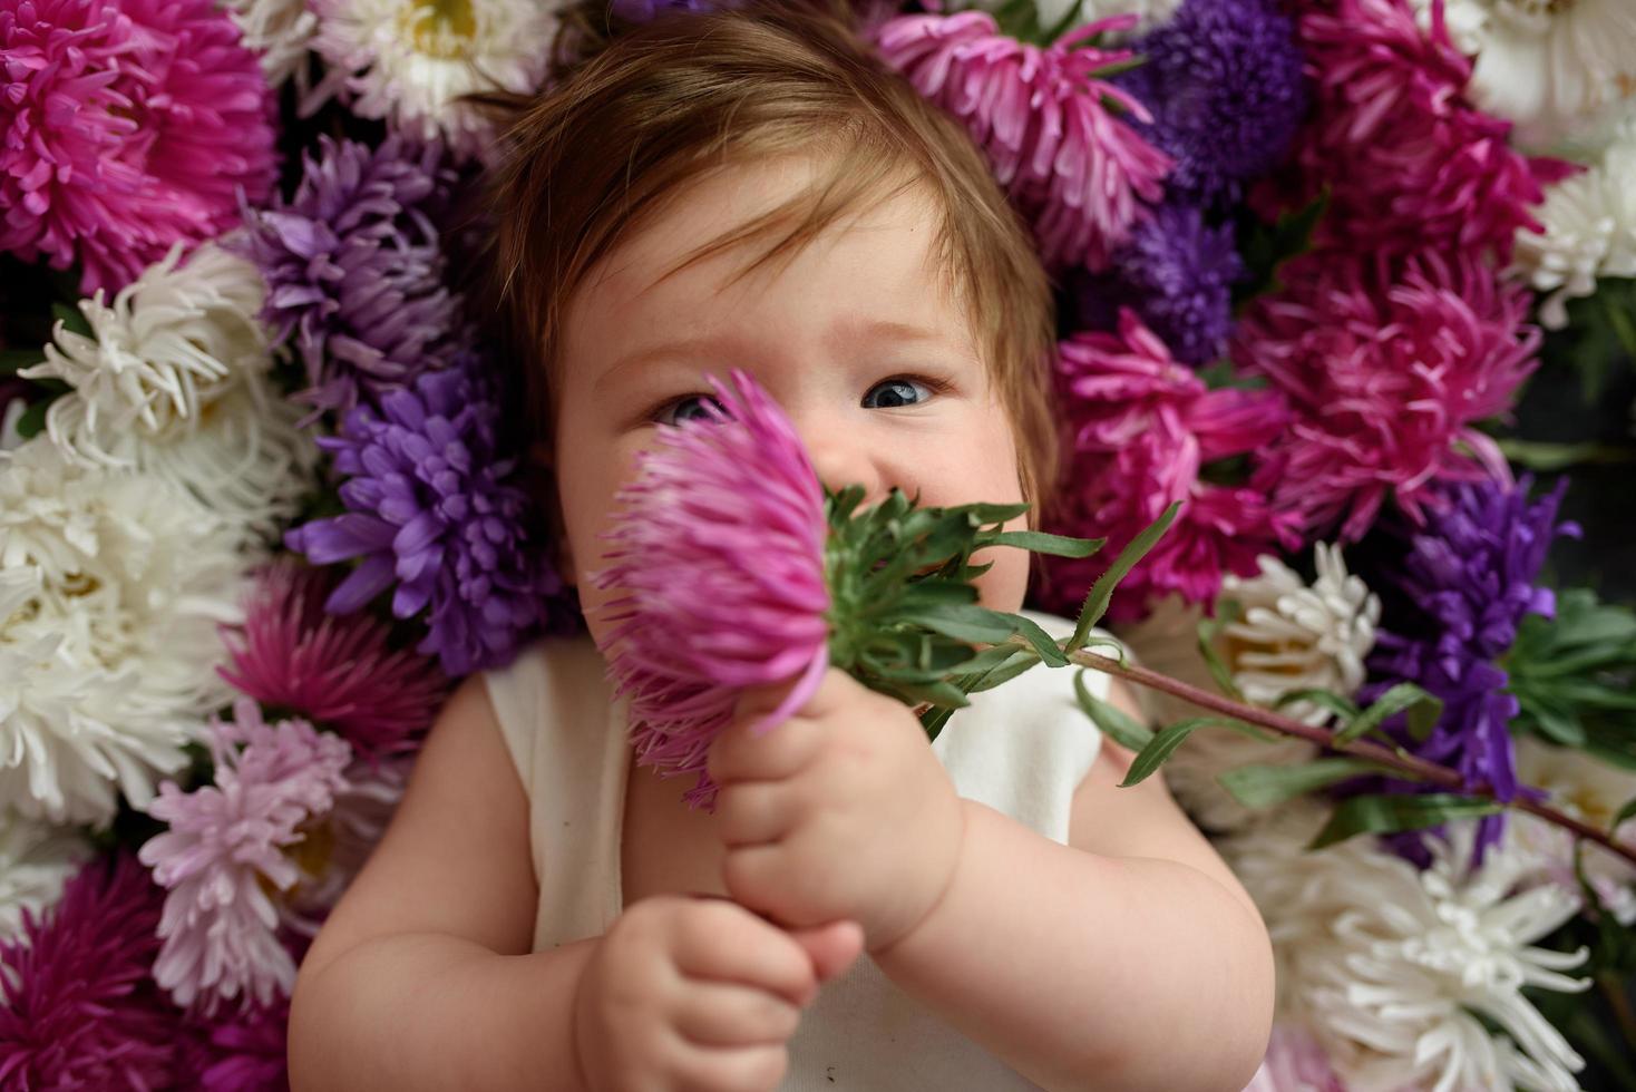
<path id="1" fill-rule="evenodd" d="M 378 149 L 319 137 L 293 201 L 245 209 L 237 248 L 267 278 L 263 320 L 294 340 L 317 410 L 350 410 L 371 396 L 448 366 L 458 298 L 432 216 L 448 199 L 437 144 L 388 137 Z"/>

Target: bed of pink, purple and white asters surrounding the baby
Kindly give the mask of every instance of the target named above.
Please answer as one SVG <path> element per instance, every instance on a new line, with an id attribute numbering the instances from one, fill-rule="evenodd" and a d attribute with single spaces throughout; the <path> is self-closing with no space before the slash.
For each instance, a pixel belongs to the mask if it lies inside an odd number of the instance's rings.
<path id="1" fill-rule="evenodd" d="M 0 1087 L 286 1085 L 296 968 L 440 701 L 582 629 L 468 307 L 496 134 L 463 95 L 712 7 L 0 7 Z M 731 518 L 793 528 L 793 575 L 743 662 L 615 664 L 648 759 L 697 770 L 723 693 L 815 664 L 929 731 L 1016 667 L 1126 674 L 1152 727 L 1081 688 L 1088 731 L 1274 940 L 1252 1087 L 1636 1089 L 1636 7 L 857 16 L 1034 227 L 1073 487 L 1039 535 L 857 513 L 723 387 L 721 443 L 800 503 L 636 489 L 615 575 L 687 541 L 707 580 Z M 728 472 L 689 443 L 685 481 Z M 880 535 L 926 551 L 867 564 Z M 955 602 L 996 543 L 1075 639 Z M 826 549 L 897 660 L 847 652 Z M 720 602 L 643 610 L 731 631 Z"/>

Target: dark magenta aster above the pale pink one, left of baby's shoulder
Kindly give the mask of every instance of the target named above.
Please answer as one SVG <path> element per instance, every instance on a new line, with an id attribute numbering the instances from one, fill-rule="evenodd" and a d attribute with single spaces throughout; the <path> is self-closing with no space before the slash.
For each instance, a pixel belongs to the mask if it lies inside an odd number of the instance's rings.
<path id="1" fill-rule="evenodd" d="M 262 705 L 335 729 L 371 763 L 412 752 L 448 678 L 419 652 L 391 649 L 375 618 L 327 613 L 332 584 L 329 571 L 290 557 L 267 566 L 242 628 L 222 629 L 232 662 L 218 670 Z"/>

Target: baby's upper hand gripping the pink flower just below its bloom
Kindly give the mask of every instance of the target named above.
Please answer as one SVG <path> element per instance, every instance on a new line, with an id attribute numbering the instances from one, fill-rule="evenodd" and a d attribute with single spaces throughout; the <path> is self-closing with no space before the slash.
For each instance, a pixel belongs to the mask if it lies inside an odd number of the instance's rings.
<path id="1" fill-rule="evenodd" d="M 710 747 L 726 888 L 784 925 L 856 920 L 875 951 L 954 878 L 960 798 L 915 714 L 836 667 L 793 718 L 753 736 L 792 685 L 748 690 Z"/>

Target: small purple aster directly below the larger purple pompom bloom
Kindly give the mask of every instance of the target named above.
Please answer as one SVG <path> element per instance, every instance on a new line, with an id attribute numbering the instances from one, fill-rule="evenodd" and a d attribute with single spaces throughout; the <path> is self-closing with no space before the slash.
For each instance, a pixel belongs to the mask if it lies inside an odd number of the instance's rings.
<path id="1" fill-rule="evenodd" d="M 1114 330 L 1130 307 L 1184 365 L 1207 365 L 1232 333 L 1232 286 L 1245 276 L 1232 226 L 1209 227 L 1204 214 L 1165 204 L 1137 224 L 1106 273 L 1075 275 L 1080 324 Z"/>

